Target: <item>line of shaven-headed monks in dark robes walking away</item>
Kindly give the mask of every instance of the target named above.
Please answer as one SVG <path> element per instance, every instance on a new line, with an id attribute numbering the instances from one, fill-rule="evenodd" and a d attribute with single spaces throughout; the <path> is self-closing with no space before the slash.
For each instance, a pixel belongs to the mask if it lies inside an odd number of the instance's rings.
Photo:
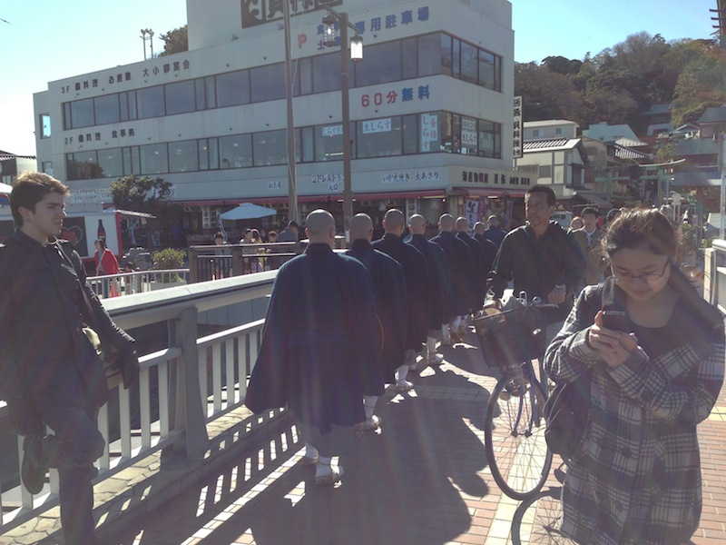
<path id="1" fill-rule="evenodd" d="M 431 240 L 418 214 L 406 223 L 400 210 L 388 210 L 383 227 L 372 241 L 373 222 L 359 213 L 349 223 L 348 252 L 334 253 L 333 216 L 309 213 L 309 246 L 277 274 L 250 376 L 247 406 L 295 413 L 303 463 L 316 467 L 320 485 L 343 474 L 333 459 L 352 450 L 354 428 L 380 427 L 374 411 L 386 384 L 409 391 L 417 353 L 438 365 L 437 341 L 461 341 L 466 317 L 482 307 L 495 260 L 486 225 L 477 223 L 471 236 L 464 217 L 443 214 Z"/>

